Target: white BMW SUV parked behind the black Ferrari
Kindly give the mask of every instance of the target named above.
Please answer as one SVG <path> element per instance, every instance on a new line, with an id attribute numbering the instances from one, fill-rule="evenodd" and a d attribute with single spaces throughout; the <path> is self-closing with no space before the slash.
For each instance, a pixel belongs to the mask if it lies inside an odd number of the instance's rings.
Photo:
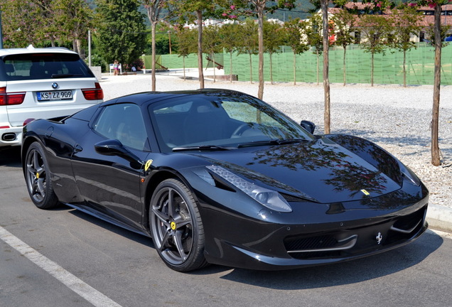
<path id="1" fill-rule="evenodd" d="M 21 145 L 26 119 L 65 117 L 103 99 L 95 75 L 75 52 L 0 49 L 0 148 Z"/>

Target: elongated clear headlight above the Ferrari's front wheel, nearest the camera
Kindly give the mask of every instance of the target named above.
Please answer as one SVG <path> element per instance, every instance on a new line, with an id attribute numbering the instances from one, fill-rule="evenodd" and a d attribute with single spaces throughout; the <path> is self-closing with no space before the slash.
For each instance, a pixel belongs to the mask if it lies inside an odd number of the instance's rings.
<path id="1" fill-rule="evenodd" d="M 250 183 L 221 166 L 207 166 L 207 168 L 265 207 L 279 212 L 292 212 L 289 203 L 275 190 L 269 190 Z"/>

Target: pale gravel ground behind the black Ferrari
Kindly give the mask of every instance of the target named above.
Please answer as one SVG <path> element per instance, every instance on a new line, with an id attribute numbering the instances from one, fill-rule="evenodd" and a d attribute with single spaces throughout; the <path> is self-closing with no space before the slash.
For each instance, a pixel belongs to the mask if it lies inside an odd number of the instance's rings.
<path id="1" fill-rule="evenodd" d="M 194 77 L 198 70 L 190 70 Z M 182 70 L 158 73 L 156 90 L 195 90 L 198 80 L 183 80 Z M 205 72 L 212 75 L 212 70 Z M 105 99 L 151 90 L 151 75 L 104 75 Z M 205 81 L 205 87 L 221 87 L 257 95 L 257 83 Z M 411 168 L 430 190 L 430 203 L 452 208 L 452 86 L 441 87 L 439 146 L 442 165 L 432 166 L 430 154 L 433 86 L 331 85 L 332 133 L 353 134 L 387 149 Z M 296 122 L 307 119 L 323 133 L 323 85 L 265 84 L 264 100 Z"/>

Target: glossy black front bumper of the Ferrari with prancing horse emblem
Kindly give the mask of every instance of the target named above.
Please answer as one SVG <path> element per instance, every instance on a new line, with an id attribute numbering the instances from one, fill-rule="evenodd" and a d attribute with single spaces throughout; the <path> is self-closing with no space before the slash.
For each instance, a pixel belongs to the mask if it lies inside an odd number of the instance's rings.
<path id="1" fill-rule="evenodd" d="M 402 247 L 420 237 L 428 227 L 427 207 L 428 196 L 384 215 L 368 209 L 362 210 L 365 217 L 361 219 L 298 225 L 237 219 L 237 215 L 222 212 L 222 217 L 203 219 L 207 224 L 205 257 L 213 264 L 262 270 L 295 269 L 367 257 Z M 357 212 L 350 210 L 341 215 L 356 217 Z M 217 222 L 210 225 L 210 220 Z"/>

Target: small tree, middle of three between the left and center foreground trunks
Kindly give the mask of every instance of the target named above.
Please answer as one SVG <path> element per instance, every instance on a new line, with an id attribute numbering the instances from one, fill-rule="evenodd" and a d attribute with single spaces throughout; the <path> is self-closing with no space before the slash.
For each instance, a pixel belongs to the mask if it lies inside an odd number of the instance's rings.
<path id="1" fill-rule="evenodd" d="M 306 26 L 305 21 L 299 18 L 292 19 L 284 23 L 284 44 L 289 45 L 294 53 L 294 85 L 296 85 L 296 55 L 309 50 L 306 43 Z"/>

